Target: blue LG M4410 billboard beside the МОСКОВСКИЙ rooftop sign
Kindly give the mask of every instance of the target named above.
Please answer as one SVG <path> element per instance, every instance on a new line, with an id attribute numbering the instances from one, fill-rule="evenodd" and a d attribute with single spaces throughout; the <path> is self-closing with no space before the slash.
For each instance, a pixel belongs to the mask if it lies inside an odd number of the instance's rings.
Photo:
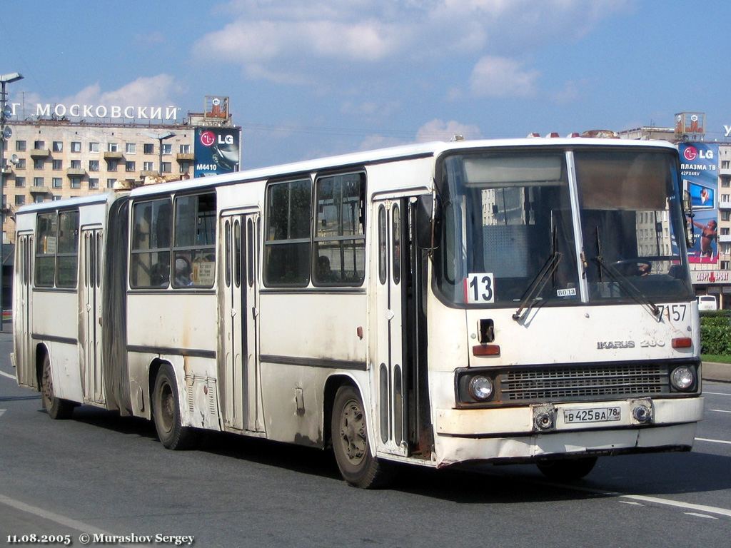
<path id="1" fill-rule="evenodd" d="M 240 163 L 238 128 L 199 127 L 195 129 L 195 177 L 238 171 Z"/>

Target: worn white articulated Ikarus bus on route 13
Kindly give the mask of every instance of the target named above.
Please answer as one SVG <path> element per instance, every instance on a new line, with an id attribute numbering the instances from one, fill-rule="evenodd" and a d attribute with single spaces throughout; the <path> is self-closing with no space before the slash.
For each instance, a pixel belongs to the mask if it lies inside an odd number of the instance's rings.
<path id="1" fill-rule="evenodd" d="M 18 211 L 18 383 L 394 462 L 689 450 L 702 418 L 678 153 L 553 138 L 412 145 Z"/>

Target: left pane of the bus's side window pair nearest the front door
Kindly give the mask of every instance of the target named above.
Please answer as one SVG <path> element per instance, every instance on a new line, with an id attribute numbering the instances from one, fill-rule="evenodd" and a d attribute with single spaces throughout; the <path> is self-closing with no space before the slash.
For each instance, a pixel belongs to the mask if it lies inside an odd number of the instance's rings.
<path id="1" fill-rule="evenodd" d="M 310 277 L 309 179 L 270 184 L 266 191 L 264 242 L 266 286 L 306 286 Z"/>

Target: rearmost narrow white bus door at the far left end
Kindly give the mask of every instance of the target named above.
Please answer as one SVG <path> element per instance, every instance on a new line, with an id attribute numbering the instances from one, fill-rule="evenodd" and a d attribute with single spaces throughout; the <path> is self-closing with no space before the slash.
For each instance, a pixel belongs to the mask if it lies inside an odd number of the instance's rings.
<path id="1" fill-rule="evenodd" d="M 15 374 L 18 383 L 26 387 L 38 387 L 34 363 L 33 340 L 31 338 L 31 299 L 33 298 L 33 255 L 34 237 L 32 234 L 19 234 L 15 245 L 15 281 L 13 288 L 13 330 L 15 340 Z"/>

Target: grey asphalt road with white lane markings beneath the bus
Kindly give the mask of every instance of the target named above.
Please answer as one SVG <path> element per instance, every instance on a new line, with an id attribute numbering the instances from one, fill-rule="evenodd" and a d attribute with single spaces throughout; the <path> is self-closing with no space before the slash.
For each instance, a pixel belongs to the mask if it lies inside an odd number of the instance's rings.
<path id="1" fill-rule="evenodd" d="M 8 546 L 34 534 L 78 547 L 86 534 L 88 546 L 731 547 L 731 384 L 705 382 L 690 453 L 606 457 L 571 485 L 528 465 L 404 468 L 391 489 L 363 491 L 328 452 L 224 434 L 170 452 L 151 423 L 90 407 L 52 421 L 15 384 L 9 351 L 0 334 Z"/>

